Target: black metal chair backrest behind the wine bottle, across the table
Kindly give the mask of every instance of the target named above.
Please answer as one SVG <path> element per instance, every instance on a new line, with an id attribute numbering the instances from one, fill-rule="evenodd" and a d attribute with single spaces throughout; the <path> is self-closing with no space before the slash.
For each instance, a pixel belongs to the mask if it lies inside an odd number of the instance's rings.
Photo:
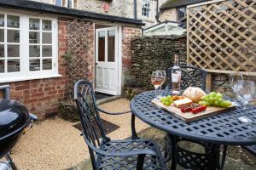
<path id="1" fill-rule="evenodd" d="M 182 70 L 181 89 L 198 87 L 206 91 L 207 71 L 188 65 L 180 65 Z M 172 89 L 172 67 L 166 70 L 166 77 L 169 79 L 168 88 Z"/>

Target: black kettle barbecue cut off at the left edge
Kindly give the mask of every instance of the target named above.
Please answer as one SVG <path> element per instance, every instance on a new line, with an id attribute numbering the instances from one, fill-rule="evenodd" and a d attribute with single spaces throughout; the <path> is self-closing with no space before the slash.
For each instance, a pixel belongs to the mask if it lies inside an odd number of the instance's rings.
<path id="1" fill-rule="evenodd" d="M 24 129 L 37 120 L 37 116 L 28 113 L 26 107 L 19 102 L 9 99 L 9 85 L 0 86 L 4 91 L 4 99 L 0 99 L 0 170 L 17 170 L 9 152 L 20 139 Z"/>

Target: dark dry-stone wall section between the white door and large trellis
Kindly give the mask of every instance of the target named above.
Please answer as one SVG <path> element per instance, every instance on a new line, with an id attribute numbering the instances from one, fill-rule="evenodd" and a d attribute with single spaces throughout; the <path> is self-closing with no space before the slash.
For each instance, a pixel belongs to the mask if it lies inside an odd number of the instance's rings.
<path id="1" fill-rule="evenodd" d="M 131 73 L 126 86 L 152 89 L 151 72 L 173 65 L 174 54 L 179 64 L 186 64 L 186 37 L 139 37 L 132 42 Z M 131 81 L 131 82 L 129 82 Z"/>

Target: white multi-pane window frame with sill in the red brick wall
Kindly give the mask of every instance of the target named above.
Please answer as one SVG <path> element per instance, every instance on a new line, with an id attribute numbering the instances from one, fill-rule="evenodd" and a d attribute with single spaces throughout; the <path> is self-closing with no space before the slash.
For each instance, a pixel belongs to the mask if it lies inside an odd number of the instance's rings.
<path id="1" fill-rule="evenodd" d="M 8 14 L 20 16 L 20 71 L 0 73 L 0 83 L 18 82 L 18 81 L 26 81 L 26 80 L 50 78 L 50 77 L 61 77 L 61 75 L 58 74 L 58 20 L 55 18 L 49 18 L 49 17 L 20 14 L 20 13 L 14 13 L 14 12 L 9 13 L 8 11 L 3 11 L 3 10 L 1 10 L 0 14 L 4 14 L 5 18 Z M 52 70 L 29 71 L 29 18 L 52 21 Z M 6 20 L 4 23 L 6 26 L 7 25 Z M 40 34 L 42 34 L 42 32 Z M 6 37 L 7 37 L 7 32 L 6 32 L 6 29 L 4 29 L 4 38 Z M 40 39 L 41 39 L 40 41 L 42 41 L 42 37 L 40 37 Z M 7 57 L 6 51 L 5 51 L 5 57 Z M 40 64 L 42 65 L 42 62 Z"/>

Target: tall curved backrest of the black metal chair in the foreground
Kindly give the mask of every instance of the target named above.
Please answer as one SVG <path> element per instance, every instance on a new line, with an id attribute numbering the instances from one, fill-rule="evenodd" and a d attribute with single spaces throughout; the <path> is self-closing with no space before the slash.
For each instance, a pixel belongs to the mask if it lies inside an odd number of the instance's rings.
<path id="1" fill-rule="evenodd" d="M 92 83 L 87 80 L 76 82 L 74 85 L 74 99 L 79 109 L 84 140 L 89 147 L 93 167 L 96 167 L 95 149 L 99 149 L 101 144 L 109 139 L 102 127 Z"/>

